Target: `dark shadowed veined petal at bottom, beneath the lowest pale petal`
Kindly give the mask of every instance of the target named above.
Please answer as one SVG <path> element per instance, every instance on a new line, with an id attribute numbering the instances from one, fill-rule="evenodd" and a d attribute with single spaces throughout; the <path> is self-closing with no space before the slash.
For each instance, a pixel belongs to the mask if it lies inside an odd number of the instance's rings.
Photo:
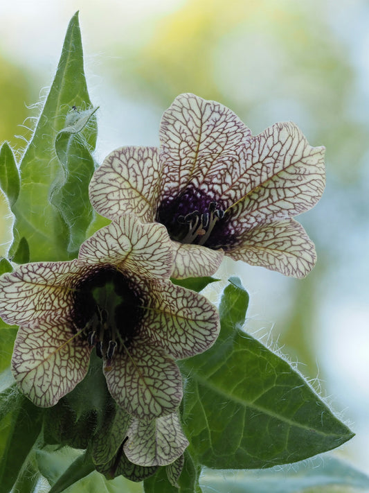
<path id="1" fill-rule="evenodd" d="M 116 478 L 116 476 L 124 476 L 130 481 L 143 481 L 145 478 L 149 478 L 156 472 L 159 466 L 145 467 L 141 465 L 133 464 L 128 460 L 123 450 L 123 445 L 120 446 L 118 453 L 114 458 L 109 460 L 104 465 L 97 465 L 96 469 L 107 479 Z"/>

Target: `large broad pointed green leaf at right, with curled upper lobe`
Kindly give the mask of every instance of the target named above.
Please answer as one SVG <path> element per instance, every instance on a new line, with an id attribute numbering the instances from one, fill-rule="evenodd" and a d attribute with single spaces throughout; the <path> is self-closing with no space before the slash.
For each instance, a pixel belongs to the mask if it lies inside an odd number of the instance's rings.
<path id="1" fill-rule="evenodd" d="M 191 451 L 208 467 L 255 469 L 339 447 L 353 436 L 347 426 L 285 360 L 240 330 L 248 300 L 231 279 L 216 343 L 181 362 Z"/>

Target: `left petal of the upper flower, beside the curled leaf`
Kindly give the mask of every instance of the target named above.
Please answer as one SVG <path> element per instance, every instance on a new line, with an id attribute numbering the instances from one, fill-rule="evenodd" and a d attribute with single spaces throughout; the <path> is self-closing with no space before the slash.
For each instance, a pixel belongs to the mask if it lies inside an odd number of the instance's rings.
<path id="1" fill-rule="evenodd" d="M 105 157 L 89 185 L 96 211 L 109 219 L 133 212 L 152 222 L 160 178 L 158 154 L 153 147 L 121 147 Z"/>

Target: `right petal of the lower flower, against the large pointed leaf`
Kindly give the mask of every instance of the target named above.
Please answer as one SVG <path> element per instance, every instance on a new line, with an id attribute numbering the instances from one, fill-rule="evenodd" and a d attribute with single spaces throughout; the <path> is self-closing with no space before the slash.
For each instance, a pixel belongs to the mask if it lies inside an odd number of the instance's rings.
<path id="1" fill-rule="evenodd" d="M 173 358 L 206 351 L 219 334 L 219 315 L 205 296 L 171 282 L 152 282 L 144 319 L 148 336 Z"/>

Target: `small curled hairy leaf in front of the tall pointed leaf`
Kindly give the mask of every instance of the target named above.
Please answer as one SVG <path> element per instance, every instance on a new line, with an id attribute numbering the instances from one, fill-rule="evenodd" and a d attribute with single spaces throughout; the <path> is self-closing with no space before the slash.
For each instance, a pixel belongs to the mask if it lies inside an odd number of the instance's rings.
<path id="1" fill-rule="evenodd" d="M 51 203 L 60 210 L 69 228 L 67 248 L 70 253 L 75 252 L 75 255 L 86 239 L 87 228 L 93 218 L 89 182 L 95 165 L 90 153 L 93 148 L 89 146 L 84 130 L 89 130 L 91 122 L 92 128 L 96 128 L 96 110 L 97 108 L 82 112 L 73 110 L 67 115 L 66 128 L 58 133 L 55 140 L 55 150 L 64 176 L 51 191 Z"/>

